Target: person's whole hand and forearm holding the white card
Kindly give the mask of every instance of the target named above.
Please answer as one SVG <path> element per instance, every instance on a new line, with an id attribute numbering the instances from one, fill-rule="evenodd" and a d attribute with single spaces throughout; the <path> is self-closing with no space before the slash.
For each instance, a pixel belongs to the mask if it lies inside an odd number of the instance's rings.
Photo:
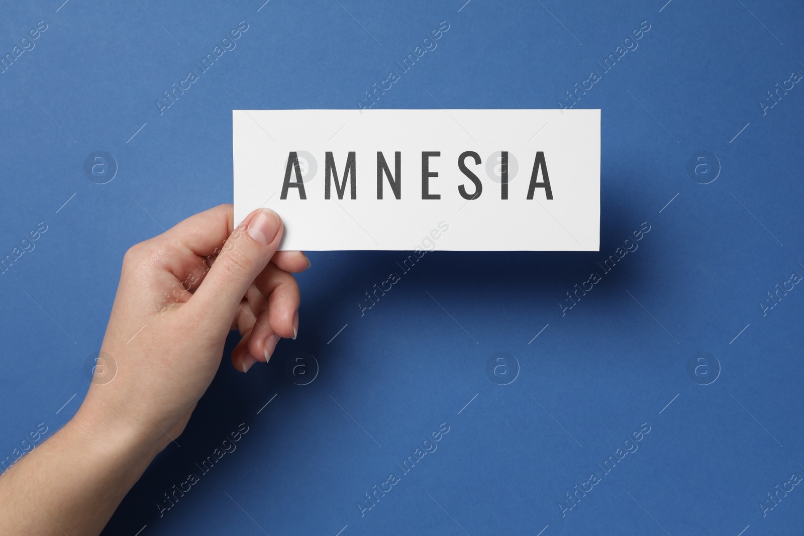
<path id="1" fill-rule="evenodd" d="M 234 229 L 231 205 L 185 219 L 126 252 L 98 365 L 79 411 L 0 478 L 0 534 L 99 534 L 187 420 L 231 329 L 246 372 L 296 338 L 310 261 L 277 252 L 268 209 Z"/>

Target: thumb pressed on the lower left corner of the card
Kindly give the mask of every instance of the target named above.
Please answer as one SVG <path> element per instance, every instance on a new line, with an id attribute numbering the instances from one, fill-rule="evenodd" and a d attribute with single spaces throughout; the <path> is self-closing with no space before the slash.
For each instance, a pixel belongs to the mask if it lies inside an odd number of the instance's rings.
<path id="1" fill-rule="evenodd" d="M 281 218 L 269 208 L 253 211 L 232 231 L 188 304 L 208 329 L 228 332 L 248 287 L 277 252 L 283 231 Z"/>

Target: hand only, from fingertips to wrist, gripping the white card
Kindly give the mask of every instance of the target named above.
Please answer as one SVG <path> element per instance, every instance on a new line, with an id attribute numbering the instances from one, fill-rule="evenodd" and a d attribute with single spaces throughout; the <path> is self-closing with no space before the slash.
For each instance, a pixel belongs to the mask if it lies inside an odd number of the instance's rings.
<path id="1" fill-rule="evenodd" d="M 277 252 L 283 225 L 273 211 L 232 227 L 232 206 L 221 205 L 126 252 L 100 348 L 112 361 L 106 372 L 117 372 L 92 383 L 76 416 L 125 427 L 159 452 L 209 387 L 230 329 L 243 335 L 232 351 L 243 372 L 267 362 L 280 338 L 296 338 L 300 298 L 290 272 L 310 261 Z"/>

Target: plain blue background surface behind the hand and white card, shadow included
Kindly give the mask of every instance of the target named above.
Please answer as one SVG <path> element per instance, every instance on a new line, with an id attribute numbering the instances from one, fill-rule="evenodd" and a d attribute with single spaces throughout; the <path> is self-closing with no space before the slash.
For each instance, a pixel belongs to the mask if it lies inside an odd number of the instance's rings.
<path id="1" fill-rule="evenodd" d="M 375 108 L 557 108 L 647 21 L 575 106 L 602 110 L 601 252 L 433 252 L 362 317 L 404 255 L 311 253 L 297 340 L 246 375 L 224 359 L 105 534 L 799 534 L 800 486 L 759 505 L 804 475 L 804 289 L 759 304 L 804 274 L 804 88 L 759 103 L 804 72 L 804 5 L 464 1 L 6 2 L 2 55 L 48 28 L 0 75 L 0 256 L 48 228 L 0 276 L 0 454 L 79 407 L 125 250 L 231 202 L 232 109 L 357 108 L 444 20 Z M 236 49 L 160 115 L 241 20 Z M 96 150 L 119 166 L 104 185 L 83 170 Z M 687 173 L 699 150 L 720 162 L 706 185 Z M 638 250 L 562 316 L 643 222 Z M 284 371 L 300 352 L 319 368 L 305 386 Z M 515 358 L 495 377 L 497 352 Z M 698 352 L 716 358 L 690 374 Z M 240 423 L 236 451 L 160 517 Z M 361 517 L 441 423 L 437 451 Z M 638 451 L 562 517 L 642 423 Z"/>

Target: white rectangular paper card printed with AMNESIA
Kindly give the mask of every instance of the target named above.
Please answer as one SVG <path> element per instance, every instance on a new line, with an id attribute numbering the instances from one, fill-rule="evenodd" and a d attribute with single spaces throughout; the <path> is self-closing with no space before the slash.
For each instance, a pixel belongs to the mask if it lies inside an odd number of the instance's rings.
<path id="1" fill-rule="evenodd" d="M 598 251 L 600 110 L 234 110 L 283 250 Z"/>

